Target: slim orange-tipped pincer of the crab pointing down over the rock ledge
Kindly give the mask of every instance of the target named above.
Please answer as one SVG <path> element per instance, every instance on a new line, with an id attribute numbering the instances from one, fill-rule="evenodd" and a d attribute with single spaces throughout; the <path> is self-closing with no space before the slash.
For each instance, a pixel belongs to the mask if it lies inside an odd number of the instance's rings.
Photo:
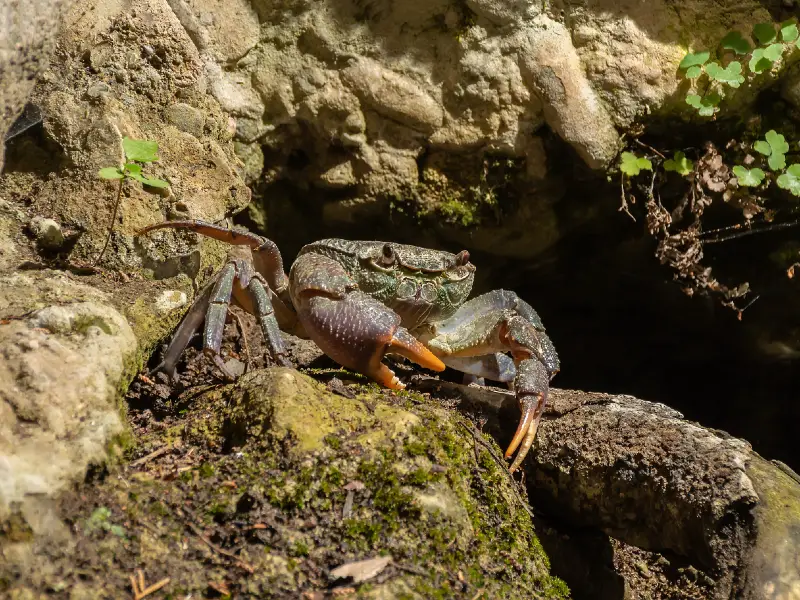
<path id="1" fill-rule="evenodd" d="M 506 449 L 505 456 L 510 458 L 519 448 L 514 462 L 509 471 L 512 473 L 519 468 L 525 460 L 528 451 L 536 438 L 539 420 L 542 418 L 545 404 L 547 403 L 547 389 L 550 376 L 545 366 L 537 359 L 523 360 L 517 368 L 514 387 L 519 398 L 520 416 L 517 431 Z"/>

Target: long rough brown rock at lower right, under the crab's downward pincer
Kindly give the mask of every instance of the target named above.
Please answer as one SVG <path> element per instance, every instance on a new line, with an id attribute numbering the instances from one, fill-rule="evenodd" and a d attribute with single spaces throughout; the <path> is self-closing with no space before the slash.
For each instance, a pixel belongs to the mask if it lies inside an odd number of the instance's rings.
<path id="1" fill-rule="evenodd" d="M 436 385 L 488 411 L 490 430 L 516 411 L 508 393 Z M 713 598 L 793 597 L 800 476 L 662 404 L 568 390 L 550 401 L 526 468 L 549 518 L 685 557 L 713 574 Z"/>

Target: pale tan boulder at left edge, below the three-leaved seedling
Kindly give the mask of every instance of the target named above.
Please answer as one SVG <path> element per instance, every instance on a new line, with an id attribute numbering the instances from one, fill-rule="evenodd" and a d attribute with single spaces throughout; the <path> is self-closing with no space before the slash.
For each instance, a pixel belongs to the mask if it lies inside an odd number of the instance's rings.
<path id="1" fill-rule="evenodd" d="M 125 318 L 91 288 L 51 274 L 0 276 L 0 520 L 30 496 L 53 497 L 100 464 L 124 430 L 120 383 L 137 341 Z M 59 306 L 37 307 L 48 297 Z M 79 300 L 81 297 L 86 300 Z"/>

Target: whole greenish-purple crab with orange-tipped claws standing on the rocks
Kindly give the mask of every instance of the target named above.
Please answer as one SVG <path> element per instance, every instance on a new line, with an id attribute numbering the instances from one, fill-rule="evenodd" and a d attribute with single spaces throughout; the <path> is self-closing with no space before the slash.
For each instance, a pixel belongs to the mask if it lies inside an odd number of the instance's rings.
<path id="1" fill-rule="evenodd" d="M 516 470 L 530 450 L 559 370 L 536 311 L 514 292 L 467 300 L 475 277 L 469 253 L 391 242 L 328 239 L 304 246 L 284 273 L 274 242 L 203 221 L 166 221 L 232 244 L 228 262 L 186 313 L 159 365 L 174 373 L 205 321 L 204 352 L 226 371 L 220 345 L 233 299 L 258 319 L 272 359 L 290 366 L 279 329 L 313 340 L 345 368 L 391 388 L 405 386 L 382 360 L 399 354 L 434 371 L 445 366 L 513 386 L 522 412 L 506 450 Z M 238 246 L 239 248 L 236 248 Z M 510 353 L 508 356 L 506 353 Z"/>

